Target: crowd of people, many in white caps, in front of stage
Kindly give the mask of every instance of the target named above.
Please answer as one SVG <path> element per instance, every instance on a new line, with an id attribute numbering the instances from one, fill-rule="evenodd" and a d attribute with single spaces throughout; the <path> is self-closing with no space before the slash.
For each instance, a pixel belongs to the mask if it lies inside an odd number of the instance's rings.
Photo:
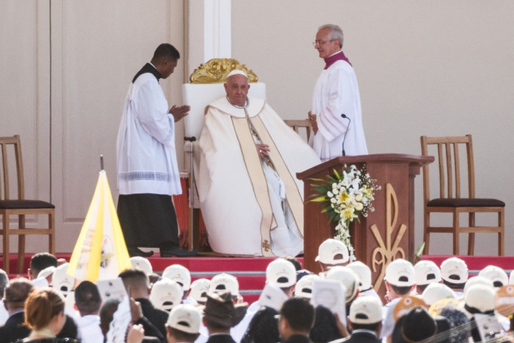
<path id="1" fill-rule="evenodd" d="M 98 284 L 67 275 L 65 260 L 37 253 L 28 278 L 8 280 L 0 270 L 0 342 L 106 342 L 128 298 L 122 341 L 130 343 L 511 342 L 514 273 L 488 266 L 469 278 L 456 257 L 440 266 L 396 259 L 382 298 L 370 268 L 349 260 L 334 239 L 319 247 L 319 274 L 276 258 L 259 300 L 248 304 L 231 274 L 192 280 L 180 264 L 156 273 L 140 256 L 118 276 L 127 298 L 105 299 Z"/>

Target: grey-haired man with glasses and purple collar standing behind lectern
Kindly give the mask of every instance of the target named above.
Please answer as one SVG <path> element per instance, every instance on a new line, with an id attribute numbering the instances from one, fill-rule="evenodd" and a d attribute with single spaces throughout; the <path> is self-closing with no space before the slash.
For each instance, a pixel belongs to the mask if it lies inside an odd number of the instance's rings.
<path id="1" fill-rule="evenodd" d="M 314 48 L 325 60 L 325 68 L 312 94 L 308 116 L 314 134 L 309 144 L 323 161 L 342 156 L 343 149 L 347 156 L 366 155 L 361 96 L 354 68 L 341 50 L 343 31 L 337 25 L 321 26 Z"/>

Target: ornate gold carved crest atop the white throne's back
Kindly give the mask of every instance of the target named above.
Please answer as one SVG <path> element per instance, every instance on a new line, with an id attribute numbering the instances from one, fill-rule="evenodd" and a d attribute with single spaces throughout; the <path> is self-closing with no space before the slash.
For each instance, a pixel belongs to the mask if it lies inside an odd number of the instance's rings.
<path id="1" fill-rule="evenodd" d="M 211 59 L 197 67 L 189 76 L 191 83 L 224 83 L 229 72 L 238 69 L 246 72 L 248 82 L 257 82 L 257 75 L 236 59 Z"/>

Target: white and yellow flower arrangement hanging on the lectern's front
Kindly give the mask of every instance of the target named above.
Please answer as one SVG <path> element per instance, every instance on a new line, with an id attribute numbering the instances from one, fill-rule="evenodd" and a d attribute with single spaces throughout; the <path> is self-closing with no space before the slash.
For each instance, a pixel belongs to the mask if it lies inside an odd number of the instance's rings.
<path id="1" fill-rule="evenodd" d="M 374 211 L 374 192 L 381 187 L 367 174 L 366 165 L 361 170 L 355 165 L 344 165 L 341 174 L 334 169 L 334 176 L 328 175 L 328 180 L 311 180 L 321 182 L 318 185 L 312 184 L 318 194 L 311 201 L 321 203 L 321 212 L 326 212 L 330 221 L 337 222 L 334 238 L 346 245 L 350 261 L 356 260 L 354 247 L 350 242 L 350 222 L 354 219 L 360 221 L 360 215 L 367 217 L 368 211 Z"/>

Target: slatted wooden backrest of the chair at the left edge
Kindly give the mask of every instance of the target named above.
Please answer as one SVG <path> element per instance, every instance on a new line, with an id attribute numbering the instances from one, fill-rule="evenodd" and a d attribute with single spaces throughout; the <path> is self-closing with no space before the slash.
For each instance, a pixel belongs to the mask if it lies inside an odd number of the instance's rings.
<path id="1" fill-rule="evenodd" d="M 2 152 L 2 177 L 3 182 L 3 191 L 0 187 L 0 198 L 5 200 L 12 200 L 12 192 L 10 191 L 10 186 L 12 185 L 12 181 L 10 180 L 10 167 L 9 167 L 9 154 L 11 154 L 10 147 L 12 147 L 12 151 L 14 152 L 14 158 L 16 160 L 16 176 L 17 176 L 17 198 L 23 199 L 25 196 L 24 193 L 24 183 L 23 183 L 23 162 L 21 158 L 21 144 L 19 135 L 14 135 L 10 137 L 0 137 L 0 145 Z M 11 167 L 12 168 L 12 167 Z M 12 169 L 11 169 L 12 170 Z"/>

